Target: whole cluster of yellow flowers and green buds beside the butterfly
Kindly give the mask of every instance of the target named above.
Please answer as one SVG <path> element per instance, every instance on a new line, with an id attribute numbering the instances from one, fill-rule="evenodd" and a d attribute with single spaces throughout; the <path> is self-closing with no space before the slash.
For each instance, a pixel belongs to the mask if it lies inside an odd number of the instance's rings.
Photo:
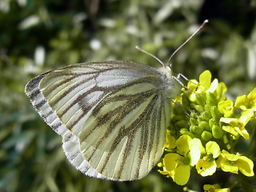
<path id="1" fill-rule="evenodd" d="M 256 118 L 256 88 L 238 97 L 235 103 L 223 96 L 226 90 L 218 79 L 211 82 L 210 71 L 206 70 L 199 82 L 189 81 L 182 94 L 174 98 L 166 154 L 158 166 L 162 167 L 161 174 L 173 178 L 178 185 L 189 181 L 191 168 L 203 177 L 216 170 L 254 176 L 250 158 L 231 151 L 234 140 L 250 138 L 246 124 Z"/>

